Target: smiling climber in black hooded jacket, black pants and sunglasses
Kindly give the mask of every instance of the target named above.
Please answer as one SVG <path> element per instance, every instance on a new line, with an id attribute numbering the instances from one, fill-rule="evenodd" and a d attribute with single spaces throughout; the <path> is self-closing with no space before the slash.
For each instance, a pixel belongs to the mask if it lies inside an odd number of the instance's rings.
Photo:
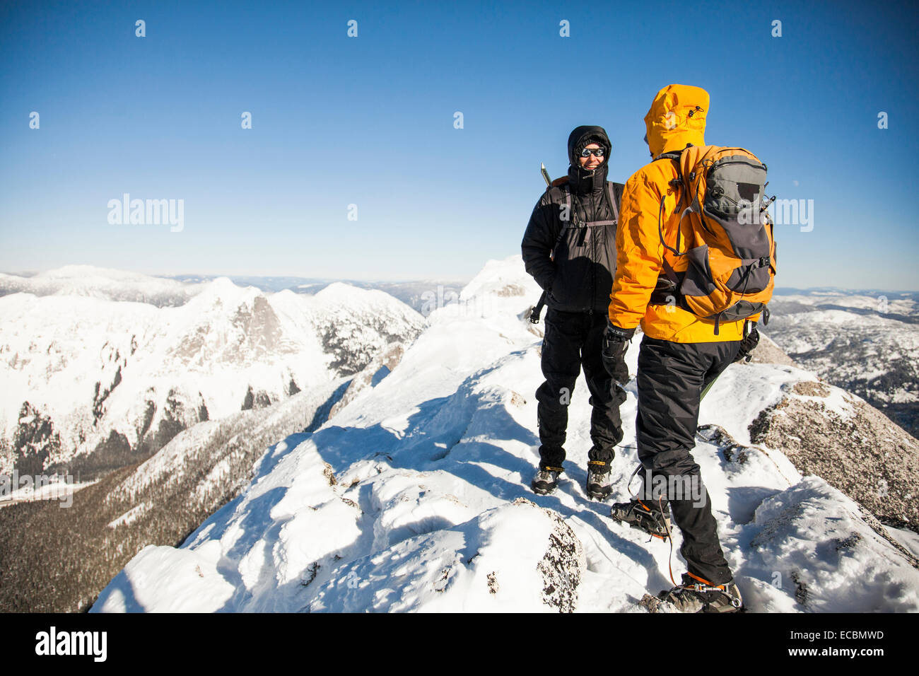
<path id="1" fill-rule="evenodd" d="M 536 392 L 539 471 L 531 486 L 539 494 L 558 485 L 565 459 L 568 404 L 584 366 L 590 390 L 587 495 L 610 492 L 609 465 L 622 441 L 621 385 L 629 372 L 621 358 L 610 376 L 603 365 L 609 292 L 616 274 L 616 222 L 622 184 L 607 182 L 607 132 L 578 127 L 568 138 L 568 177 L 556 180 L 533 209 L 521 243 L 527 272 L 546 291 L 546 332 L 542 340 L 545 383 Z"/>

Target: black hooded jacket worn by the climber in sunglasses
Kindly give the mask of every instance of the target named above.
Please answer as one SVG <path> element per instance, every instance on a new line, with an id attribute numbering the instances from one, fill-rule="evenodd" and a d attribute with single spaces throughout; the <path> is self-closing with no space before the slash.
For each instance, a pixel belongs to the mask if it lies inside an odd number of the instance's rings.
<path id="1" fill-rule="evenodd" d="M 592 171 L 577 159 L 590 143 L 607 148 Z M 527 272 L 546 290 L 552 309 L 607 313 L 616 275 L 616 225 L 591 222 L 615 220 L 607 191 L 609 148 L 602 127 L 575 129 L 568 137 L 568 180 L 547 189 L 529 217 L 520 249 Z M 623 186 L 611 186 L 618 209 Z"/>

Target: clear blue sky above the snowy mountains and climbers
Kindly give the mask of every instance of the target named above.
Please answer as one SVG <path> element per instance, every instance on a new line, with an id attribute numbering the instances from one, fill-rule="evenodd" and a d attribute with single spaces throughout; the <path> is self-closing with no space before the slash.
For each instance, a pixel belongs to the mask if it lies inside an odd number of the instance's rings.
<path id="1" fill-rule="evenodd" d="M 0 270 L 469 278 L 519 253 L 573 127 L 607 129 L 624 181 L 683 83 L 708 143 L 813 201 L 811 232 L 777 229 L 779 286 L 919 290 L 912 4 L 628 5 L 5 3 Z M 109 224 L 126 192 L 184 200 L 182 232 Z"/>

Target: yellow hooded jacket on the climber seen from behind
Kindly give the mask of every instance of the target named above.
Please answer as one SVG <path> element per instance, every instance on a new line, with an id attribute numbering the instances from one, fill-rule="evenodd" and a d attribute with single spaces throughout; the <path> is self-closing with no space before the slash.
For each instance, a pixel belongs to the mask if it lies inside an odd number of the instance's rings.
<path id="1" fill-rule="evenodd" d="M 644 116 L 652 156 L 679 152 L 687 143 L 705 145 L 708 112 L 709 93 L 705 89 L 686 85 L 661 89 Z M 676 272 L 688 266 L 685 256 L 675 256 L 664 248 L 658 231 L 660 214 L 664 240 L 668 246 L 676 246 L 680 214 L 675 209 L 680 196 L 669 183 L 677 177 L 674 161 L 664 158 L 642 166 L 626 183 L 616 233 L 616 278 L 609 294 L 609 320 L 620 328 L 641 324 L 646 336 L 677 343 L 740 340 L 743 319 L 720 323 L 719 333 L 715 335 L 713 320 L 701 319 L 675 305 L 648 304 L 658 277 L 664 271 L 664 257 Z M 687 241 L 688 235 L 684 232 L 680 236 L 681 246 L 685 246 L 682 243 Z"/>

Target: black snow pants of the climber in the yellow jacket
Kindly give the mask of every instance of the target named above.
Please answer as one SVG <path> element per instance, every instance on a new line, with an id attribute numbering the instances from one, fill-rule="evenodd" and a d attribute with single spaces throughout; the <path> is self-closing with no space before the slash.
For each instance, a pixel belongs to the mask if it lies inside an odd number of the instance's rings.
<path id="1" fill-rule="evenodd" d="M 645 336 L 638 358 L 635 430 L 644 470 L 640 497 L 657 504 L 666 490 L 662 504 L 666 510 L 669 501 L 683 533 L 680 554 L 689 572 L 716 585 L 732 579 L 731 568 L 721 552 L 709 492 L 690 452 L 696 445 L 702 390 L 727 368 L 739 349 L 739 340 L 675 343 Z"/>

